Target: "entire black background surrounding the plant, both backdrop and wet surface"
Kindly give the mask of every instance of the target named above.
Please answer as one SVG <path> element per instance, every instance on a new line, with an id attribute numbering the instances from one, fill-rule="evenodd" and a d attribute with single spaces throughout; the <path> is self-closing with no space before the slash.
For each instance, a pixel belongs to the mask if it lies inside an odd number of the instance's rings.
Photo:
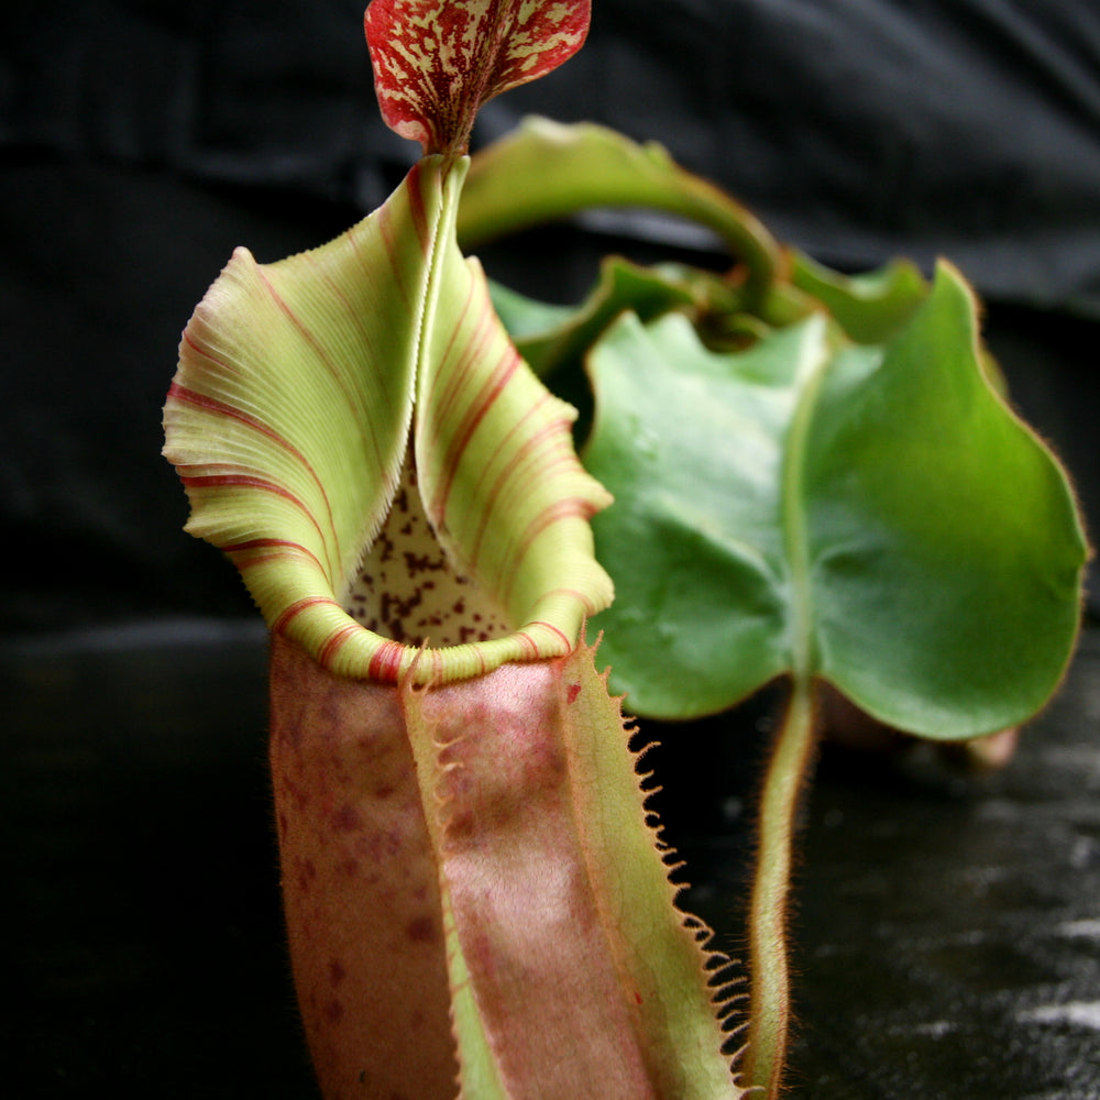
<path id="1" fill-rule="evenodd" d="M 411 163 L 378 119 L 361 23 L 348 0 L 0 14 L 9 1094 L 308 1094 L 266 822 L 262 631 L 234 571 L 180 531 L 160 409 L 233 246 L 273 261 L 322 243 Z M 596 0 L 581 54 L 490 105 L 477 143 L 529 111 L 661 141 L 844 270 L 954 260 L 1096 526 L 1097 4 Z M 696 244 L 590 221 L 536 237 L 553 245 L 537 263 L 529 241 L 493 250 L 490 273 L 571 300 L 597 255 L 654 235 Z M 1053 747 L 1026 738 L 993 780 L 826 754 L 803 872 L 805 1094 L 1100 1096 L 1086 641 L 1041 719 Z M 732 946 L 761 714 L 662 732 L 658 758 L 696 900 Z"/>

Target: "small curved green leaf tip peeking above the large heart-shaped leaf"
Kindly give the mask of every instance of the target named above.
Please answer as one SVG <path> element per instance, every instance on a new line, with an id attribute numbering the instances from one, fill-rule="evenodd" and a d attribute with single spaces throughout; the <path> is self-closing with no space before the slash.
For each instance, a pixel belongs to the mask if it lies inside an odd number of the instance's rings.
<path id="1" fill-rule="evenodd" d="M 842 275 L 791 250 L 791 282 L 816 298 L 857 343 L 883 343 L 928 295 L 915 264 L 895 260 L 878 271 Z"/>

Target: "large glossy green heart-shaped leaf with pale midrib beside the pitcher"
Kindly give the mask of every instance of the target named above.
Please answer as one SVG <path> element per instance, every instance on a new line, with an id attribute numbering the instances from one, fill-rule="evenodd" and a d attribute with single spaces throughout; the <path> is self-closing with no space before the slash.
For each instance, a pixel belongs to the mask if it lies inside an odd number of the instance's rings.
<path id="1" fill-rule="evenodd" d="M 928 737 L 1031 716 L 1057 685 L 1086 546 L 1064 472 L 978 353 L 942 265 L 882 346 L 822 319 L 714 354 L 681 318 L 594 351 L 590 471 L 616 583 L 596 619 L 637 713 L 719 711 L 783 672 Z"/>

